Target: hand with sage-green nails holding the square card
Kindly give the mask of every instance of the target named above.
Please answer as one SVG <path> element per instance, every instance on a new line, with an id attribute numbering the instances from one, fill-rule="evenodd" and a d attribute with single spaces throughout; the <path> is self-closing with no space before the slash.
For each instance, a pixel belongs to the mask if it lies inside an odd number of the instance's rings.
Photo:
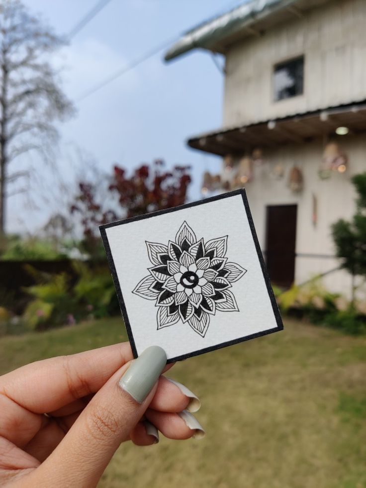
<path id="1" fill-rule="evenodd" d="M 119 445 L 202 437 L 198 398 L 160 376 L 152 346 L 128 343 L 46 359 L 0 377 L 0 485 L 93 487 Z"/>

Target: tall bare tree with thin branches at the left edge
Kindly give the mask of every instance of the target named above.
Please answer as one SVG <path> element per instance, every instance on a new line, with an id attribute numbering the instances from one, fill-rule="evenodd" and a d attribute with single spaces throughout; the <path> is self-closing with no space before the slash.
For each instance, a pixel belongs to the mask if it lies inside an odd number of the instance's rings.
<path id="1" fill-rule="evenodd" d="M 61 44 L 20 0 L 0 1 L 0 239 L 6 186 L 27 174 L 9 174 L 9 163 L 30 150 L 47 152 L 58 138 L 55 121 L 74 110 L 47 59 Z"/>

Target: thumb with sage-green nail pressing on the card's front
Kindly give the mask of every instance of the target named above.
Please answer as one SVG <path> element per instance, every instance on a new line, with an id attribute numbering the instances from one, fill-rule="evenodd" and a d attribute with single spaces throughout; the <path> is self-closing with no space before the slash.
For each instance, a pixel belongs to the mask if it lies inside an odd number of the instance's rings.
<path id="1" fill-rule="evenodd" d="M 95 486 L 121 442 L 148 408 L 167 363 L 151 346 L 124 365 L 94 395 L 67 435 L 37 468 L 38 486 Z M 122 376 L 121 376 L 122 375 Z M 45 486 L 47 486 L 45 483 Z"/>

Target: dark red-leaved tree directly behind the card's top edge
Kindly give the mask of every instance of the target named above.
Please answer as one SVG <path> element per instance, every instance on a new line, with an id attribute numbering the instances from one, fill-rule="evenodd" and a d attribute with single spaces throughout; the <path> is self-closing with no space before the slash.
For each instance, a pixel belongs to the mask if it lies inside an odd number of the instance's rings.
<path id="1" fill-rule="evenodd" d="M 191 182 L 189 169 L 189 166 L 175 166 L 171 171 L 165 171 L 164 162 L 156 160 L 150 166 L 140 166 L 128 176 L 124 168 L 114 166 L 106 189 L 108 197 L 103 199 L 97 196 L 100 182 L 80 182 L 71 212 L 80 214 L 84 249 L 91 255 L 99 254 L 98 226 L 101 224 L 182 205 Z"/>

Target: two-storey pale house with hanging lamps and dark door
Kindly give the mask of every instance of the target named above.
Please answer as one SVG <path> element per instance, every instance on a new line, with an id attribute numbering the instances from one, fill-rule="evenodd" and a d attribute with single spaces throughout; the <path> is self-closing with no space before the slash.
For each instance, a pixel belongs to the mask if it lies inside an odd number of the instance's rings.
<path id="1" fill-rule="evenodd" d="M 245 186 L 279 286 L 324 274 L 329 290 L 351 293 L 330 226 L 354 213 L 350 178 L 366 171 L 365 32 L 365 0 L 252 0 L 165 55 L 225 57 L 223 125 L 188 145 L 223 157 L 203 191 Z"/>

